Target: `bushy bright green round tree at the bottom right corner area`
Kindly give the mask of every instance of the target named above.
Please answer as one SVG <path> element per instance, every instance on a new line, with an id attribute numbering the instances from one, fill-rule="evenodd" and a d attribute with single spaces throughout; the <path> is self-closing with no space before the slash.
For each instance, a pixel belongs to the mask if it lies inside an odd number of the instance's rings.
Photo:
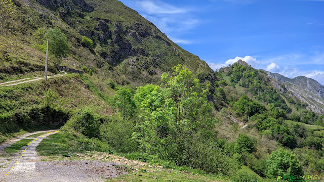
<path id="1" fill-rule="evenodd" d="M 267 160 L 266 176 L 275 178 L 283 175 L 303 175 L 302 165 L 294 154 L 284 148 L 273 151 Z"/>

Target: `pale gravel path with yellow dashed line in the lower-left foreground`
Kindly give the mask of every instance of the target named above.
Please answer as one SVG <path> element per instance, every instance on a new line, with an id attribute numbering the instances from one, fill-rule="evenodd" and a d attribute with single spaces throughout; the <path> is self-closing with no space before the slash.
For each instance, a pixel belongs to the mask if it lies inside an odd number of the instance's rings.
<path id="1" fill-rule="evenodd" d="M 19 153 L 9 155 L 3 151 L 25 136 L 40 132 L 44 131 L 28 133 L 0 145 L 0 181 L 105 181 L 127 173 L 125 168 L 119 167 L 115 162 L 39 161 L 36 147 L 48 135 L 54 134 L 54 130 L 34 138 Z"/>

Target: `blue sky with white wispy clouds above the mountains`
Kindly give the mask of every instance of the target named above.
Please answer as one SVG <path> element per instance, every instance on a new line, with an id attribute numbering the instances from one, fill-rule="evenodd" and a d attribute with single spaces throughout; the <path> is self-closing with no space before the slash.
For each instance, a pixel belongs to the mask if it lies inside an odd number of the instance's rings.
<path id="1" fill-rule="evenodd" d="M 121 0 L 212 69 L 239 59 L 324 85 L 324 0 Z"/>

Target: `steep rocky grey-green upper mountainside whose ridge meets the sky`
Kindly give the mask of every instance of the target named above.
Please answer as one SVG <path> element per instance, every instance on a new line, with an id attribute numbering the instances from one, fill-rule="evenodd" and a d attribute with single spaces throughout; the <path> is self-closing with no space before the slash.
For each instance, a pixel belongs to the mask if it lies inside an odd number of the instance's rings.
<path id="1" fill-rule="evenodd" d="M 201 82 L 217 80 L 205 61 L 183 50 L 151 22 L 116 0 L 36 2 L 50 11 L 58 22 L 69 26 L 66 32 L 73 32 L 71 40 L 80 42 L 82 36 L 93 40 L 94 47 L 90 51 L 97 57 L 98 68 L 108 63 L 134 82 L 141 78 L 145 78 L 145 82 L 155 82 L 158 74 L 171 72 L 173 66 L 182 64 Z M 80 46 L 75 42 L 70 44 L 76 49 Z"/>

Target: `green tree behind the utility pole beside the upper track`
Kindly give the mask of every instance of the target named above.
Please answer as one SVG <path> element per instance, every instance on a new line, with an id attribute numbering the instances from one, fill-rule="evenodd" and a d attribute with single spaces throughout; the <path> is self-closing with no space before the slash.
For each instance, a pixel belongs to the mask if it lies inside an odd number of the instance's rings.
<path id="1" fill-rule="evenodd" d="M 46 44 L 46 39 L 49 39 L 49 51 L 57 58 L 66 56 L 70 49 L 65 34 L 56 27 L 47 30 L 44 39 L 44 44 Z"/>

